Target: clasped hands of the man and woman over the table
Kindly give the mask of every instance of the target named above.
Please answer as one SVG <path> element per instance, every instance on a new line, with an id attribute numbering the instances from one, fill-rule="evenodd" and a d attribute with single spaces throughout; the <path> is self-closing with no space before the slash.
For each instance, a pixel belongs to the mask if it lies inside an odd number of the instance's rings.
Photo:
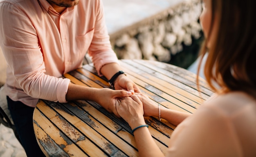
<path id="1" fill-rule="evenodd" d="M 143 116 L 158 116 L 158 106 L 148 96 L 141 94 L 139 87 L 127 76 L 118 77 L 115 89 L 99 89 L 97 103 L 108 112 L 122 117 L 129 124 L 138 119 L 144 121 Z"/>

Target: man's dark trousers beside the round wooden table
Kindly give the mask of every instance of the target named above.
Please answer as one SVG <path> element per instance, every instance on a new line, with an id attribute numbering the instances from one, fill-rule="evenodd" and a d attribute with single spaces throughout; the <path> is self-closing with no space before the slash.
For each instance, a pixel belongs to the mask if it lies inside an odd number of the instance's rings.
<path id="1" fill-rule="evenodd" d="M 13 101 L 9 96 L 7 96 L 7 103 L 27 157 L 45 157 L 38 146 L 34 133 L 33 112 L 35 108 L 29 107 L 20 101 Z"/>

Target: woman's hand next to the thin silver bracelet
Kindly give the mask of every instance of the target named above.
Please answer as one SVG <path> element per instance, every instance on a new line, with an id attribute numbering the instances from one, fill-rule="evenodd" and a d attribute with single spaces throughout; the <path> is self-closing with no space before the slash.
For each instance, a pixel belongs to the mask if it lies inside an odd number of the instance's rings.
<path id="1" fill-rule="evenodd" d="M 156 104 L 153 100 L 149 99 L 148 96 L 142 93 L 135 93 L 136 96 L 143 103 L 144 116 L 159 116 L 158 104 Z"/>

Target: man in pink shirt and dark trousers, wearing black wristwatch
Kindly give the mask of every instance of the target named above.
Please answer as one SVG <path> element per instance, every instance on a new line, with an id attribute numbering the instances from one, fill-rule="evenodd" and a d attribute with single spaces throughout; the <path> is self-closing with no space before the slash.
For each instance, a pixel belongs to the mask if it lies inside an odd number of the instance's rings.
<path id="1" fill-rule="evenodd" d="M 40 154 L 32 124 L 38 99 L 92 100 L 119 116 L 116 98 L 139 92 L 119 72 L 104 20 L 101 0 L 0 0 L 8 107 L 27 156 Z M 87 51 L 98 73 L 117 90 L 83 87 L 60 78 L 81 67 Z"/>

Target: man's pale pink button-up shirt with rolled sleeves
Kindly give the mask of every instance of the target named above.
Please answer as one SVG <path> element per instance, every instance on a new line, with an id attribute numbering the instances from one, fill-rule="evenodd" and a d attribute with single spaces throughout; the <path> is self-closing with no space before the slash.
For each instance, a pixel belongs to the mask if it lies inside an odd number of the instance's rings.
<path id="1" fill-rule="evenodd" d="M 98 72 L 118 63 L 101 0 L 80 0 L 61 15 L 46 0 L 0 0 L 0 21 L 6 93 L 13 101 L 32 107 L 38 99 L 66 102 L 70 80 L 60 77 L 81 67 L 87 51 Z"/>

